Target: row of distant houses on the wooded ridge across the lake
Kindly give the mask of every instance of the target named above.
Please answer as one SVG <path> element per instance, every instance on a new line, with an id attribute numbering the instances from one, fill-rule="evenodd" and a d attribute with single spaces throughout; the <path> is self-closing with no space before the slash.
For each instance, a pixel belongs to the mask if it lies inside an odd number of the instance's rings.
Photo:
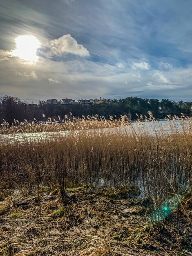
<path id="1" fill-rule="evenodd" d="M 62 99 L 61 104 L 68 105 L 68 104 L 80 104 L 83 106 L 92 106 L 96 104 L 103 104 L 107 102 L 107 99 L 78 99 L 77 102 L 74 99 Z M 47 104 L 58 104 L 56 99 L 48 99 L 46 101 Z"/>

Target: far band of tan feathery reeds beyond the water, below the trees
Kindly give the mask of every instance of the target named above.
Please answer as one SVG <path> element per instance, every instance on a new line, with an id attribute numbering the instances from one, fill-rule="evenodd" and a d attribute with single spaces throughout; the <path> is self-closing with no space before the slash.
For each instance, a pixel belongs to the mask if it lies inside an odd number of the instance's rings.
<path id="1" fill-rule="evenodd" d="M 14 120 L 12 124 L 9 124 L 4 120 L 0 127 L 0 134 L 90 130 L 95 128 L 119 127 L 128 122 L 129 119 L 125 115 L 121 116 L 121 118 L 109 116 L 109 119 L 105 119 L 105 117 L 98 115 L 82 116 L 82 118 L 74 117 L 72 113 L 70 113 L 69 117 L 65 115 L 63 119 L 58 116 L 58 121 L 56 121 L 56 119 L 51 120 L 51 118 L 48 118 L 47 121 L 38 122 L 34 118 L 33 121 L 25 120 L 24 122 Z"/>

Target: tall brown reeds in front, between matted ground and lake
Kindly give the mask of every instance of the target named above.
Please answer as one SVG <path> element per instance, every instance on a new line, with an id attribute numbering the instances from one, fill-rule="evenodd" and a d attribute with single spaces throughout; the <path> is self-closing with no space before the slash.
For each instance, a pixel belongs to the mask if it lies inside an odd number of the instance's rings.
<path id="1" fill-rule="evenodd" d="M 191 119 L 182 117 L 182 125 L 167 121 L 171 132 L 155 121 L 151 132 L 142 120 L 139 128 L 130 124 L 129 129 L 79 130 L 25 143 L 4 140 L 0 186 L 11 193 L 20 187 L 58 184 L 64 196 L 67 182 L 105 188 L 136 185 L 155 207 L 172 194 L 192 191 Z"/>

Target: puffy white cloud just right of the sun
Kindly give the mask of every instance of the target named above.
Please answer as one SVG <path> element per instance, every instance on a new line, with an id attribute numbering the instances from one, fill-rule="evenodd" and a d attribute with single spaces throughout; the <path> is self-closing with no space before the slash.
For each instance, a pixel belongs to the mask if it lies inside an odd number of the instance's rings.
<path id="1" fill-rule="evenodd" d="M 63 54 L 75 54 L 81 57 L 89 56 L 88 50 L 79 45 L 77 41 L 70 35 L 61 36 L 58 39 L 51 40 L 46 44 L 51 56 L 62 56 Z"/>

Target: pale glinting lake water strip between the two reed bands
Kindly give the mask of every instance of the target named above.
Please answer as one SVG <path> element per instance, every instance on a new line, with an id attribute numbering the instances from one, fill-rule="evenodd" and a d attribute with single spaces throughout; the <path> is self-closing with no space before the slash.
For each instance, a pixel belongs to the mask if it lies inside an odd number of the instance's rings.
<path id="1" fill-rule="evenodd" d="M 0 142 L 13 143 L 20 141 L 25 142 L 36 142 L 58 139 L 60 137 L 65 137 L 67 135 L 76 135 L 80 133 L 87 133 L 87 136 L 102 133 L 114 133 L 121 134 L 125 133 L 127 135 L 136 134 L 148 134 L 148 135 L 163 135 L 170 133 L 182 133 L 183 128 L 190 130 L 189 122 L 181 122 L 181 120 L 172 121 L 154 121 L 154 122 L 136 122 L 130 123 L 126 126 L 115 127 L 115 128 L 103 128 L 103 129 L 92 129 L 92 130 L 78 130 L 78 131 L 60 131 L 60 132 L 31 132 L 31 133 L 16 133 L 9 135 L 0 135 Z"/>

